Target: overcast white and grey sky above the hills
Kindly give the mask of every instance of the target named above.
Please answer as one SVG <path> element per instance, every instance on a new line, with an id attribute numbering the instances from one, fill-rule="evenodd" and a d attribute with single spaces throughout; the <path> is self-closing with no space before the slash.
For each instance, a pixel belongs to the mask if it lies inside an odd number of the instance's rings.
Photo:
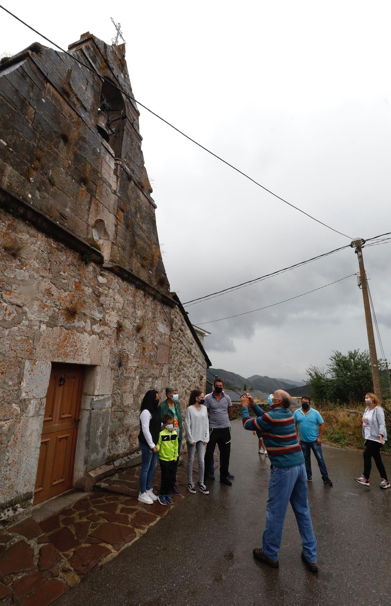
<path id="1" fill-rule="evenodd" d="M 5 6 L 67 48 L 120 21 L 134 96 L 338 235 L 140 108 L 171 290 L 183 302 L 391 231 L 389 2 L 85 2 Z M 53 8 L 54 7 L 54 8 Z M 0 53 L 47 44 L 3 13 Z M 391 245 L 364 249 L 391 356 Z M 300 295 L 358 270 L 353 249 L 188 307 L 194 324 Z M 332 350 L 367 348 L 356 277 L 203 325 L 214 367 L 305 378 Z M 378 357 L 381 357 L 378 351 Z"/>

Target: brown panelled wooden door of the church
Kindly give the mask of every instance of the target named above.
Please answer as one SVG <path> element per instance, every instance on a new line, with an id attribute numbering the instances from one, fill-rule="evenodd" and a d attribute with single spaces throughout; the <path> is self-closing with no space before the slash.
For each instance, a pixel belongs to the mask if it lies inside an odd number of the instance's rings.
<path id="1" fill-rule="evenodd" d="M 84 370 L 52 364 L 33 504 L 71 488 Z"/>

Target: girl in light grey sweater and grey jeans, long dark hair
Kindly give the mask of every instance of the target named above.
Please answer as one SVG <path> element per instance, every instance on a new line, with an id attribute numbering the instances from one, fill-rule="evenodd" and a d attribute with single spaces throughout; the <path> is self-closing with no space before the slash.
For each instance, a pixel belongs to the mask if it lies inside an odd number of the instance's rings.
<path id="1" fill-rule="evenodd" d="M 186 410 L 185 431 L 186 442 L 188 444 L 188 491 L 192 494 L 195 494 L 192 473 L 196 449 L 198 457 L 199 490 L 203 494 L 209 494 L 209 490 L 207 490 L 205 484 L 203 484 L 205 445 L 209 442 L 208 410 L 203 406 L 204 402 L 205 398 L 202 391 L 195 389 L 190 394 L 189 406 Z"/>

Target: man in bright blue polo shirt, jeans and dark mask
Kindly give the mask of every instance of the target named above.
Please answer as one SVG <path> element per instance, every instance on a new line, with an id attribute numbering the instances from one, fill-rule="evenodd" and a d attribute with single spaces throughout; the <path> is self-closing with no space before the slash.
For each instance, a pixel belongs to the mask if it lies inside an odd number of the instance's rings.
<path id="1" fill-rule="evenodd" d="M 312 480 L 311 469 L 311 450 L 315 454 L 315 459 L 318 461 L 320 473 L 324 484 L 332 486 L 333 483 L 327 473 L 327 467 L 323 459 L 322 453 L 322 436 L 324 434 L 324 421 L 315 408 L 310 407 L 310 398 L 303 396 L 301 398 L 301 408 L 297 408 L 294 412 L 295 425 L 297 430 L 298 440 L 301 444 L 301 450 L 304 454 L 306 463 L 307 481 Z M 319 428 L 318 428 L 319 425 Z"/>

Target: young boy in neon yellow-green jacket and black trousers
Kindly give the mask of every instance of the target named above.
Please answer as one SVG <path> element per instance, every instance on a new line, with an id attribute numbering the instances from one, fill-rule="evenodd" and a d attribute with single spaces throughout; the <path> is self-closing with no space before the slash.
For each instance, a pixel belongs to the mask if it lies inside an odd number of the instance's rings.
<path id="1" fill-rule="evenodd" d="M 175 485 L 175 463 L 178 458 L 178 435 L 174 431 L 174 418 L 171 415 L 163 416 L 163 429 L 159 433 L 157 441 L 157 451 L 159 453 L 160 471 L 162 472 L 162 481 L 160 484 L 160 494 L 157 497 L 160 505 L 173 505 L 171 491 Z"/>

